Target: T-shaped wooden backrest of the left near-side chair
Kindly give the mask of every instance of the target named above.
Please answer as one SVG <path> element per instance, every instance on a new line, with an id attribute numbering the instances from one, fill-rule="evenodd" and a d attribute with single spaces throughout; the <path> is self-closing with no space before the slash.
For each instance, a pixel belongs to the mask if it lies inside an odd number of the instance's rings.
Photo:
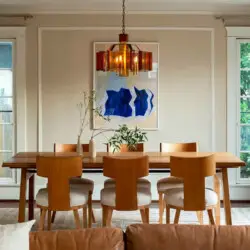
<path id="1" fill-rule="evenodd" d="M 37 175 L 48 178 L 50 210 L 70 209 L 69 179 L 82 174 L 82 157 L 38 156 Z"/>

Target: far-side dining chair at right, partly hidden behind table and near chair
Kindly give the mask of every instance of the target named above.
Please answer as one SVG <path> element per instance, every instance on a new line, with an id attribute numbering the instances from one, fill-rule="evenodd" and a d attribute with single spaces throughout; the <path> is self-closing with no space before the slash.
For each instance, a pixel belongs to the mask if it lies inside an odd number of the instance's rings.
<path id="1" fill-rule="evenodd" d="M 160 152 L 197 152 L 198 145 L 196 142 L 188 143 L 160 143 Z M 164 193 L 171 188 L 183 187 L 183 180 L 169 176 L 162 178 L 157 182 L 157 191 L 159 195 L 159 223 L 162 224 L 164 213 Z M 198 213 L 198 220 L 202 224 L 202 214 Z"/>

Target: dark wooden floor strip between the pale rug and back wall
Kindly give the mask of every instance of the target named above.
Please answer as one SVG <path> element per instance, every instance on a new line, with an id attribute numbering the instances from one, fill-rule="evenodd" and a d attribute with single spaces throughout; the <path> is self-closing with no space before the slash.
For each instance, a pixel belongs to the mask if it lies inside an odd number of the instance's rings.
<path id="1" fill-rule="evenodd" d="M 231 201 L 233 208 L 244 208 L 244 207 L 250 207 L 250 201 Z M 18 201 L 0 201 L 0 208 L 17 208 L 18 207 Z M 26 205 L 28 207 L 28 203 Z M 93 201 L 93 207 L 94 208 L 100 208 L 100 202 L 99 201 Z M 153 201 L 151 204 L 152 208 L 157 208 L 158 203 L 156 201 Z M 223 207 L 223 202 L 221 202 L 221 207 Z"/>

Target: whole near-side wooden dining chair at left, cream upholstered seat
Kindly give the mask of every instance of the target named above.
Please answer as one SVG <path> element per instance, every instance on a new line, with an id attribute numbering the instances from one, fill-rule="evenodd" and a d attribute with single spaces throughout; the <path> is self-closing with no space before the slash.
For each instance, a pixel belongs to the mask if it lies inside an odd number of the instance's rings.
<path id="1" fill-rule="evenodd" d="M 91 202 L 89 190 L 70 184 L 72 177 L 82 174 L 82 157 L 38 156 L 36 163 L 37 175 L 48 178 L 47 188 L 40 189 L 36 195 L 37 207 L 41 209 L 39 230 L 44 230 L 46 213 L 50 230 L 51 212 L 70 210 L 74 213 L 76 228 L 81 228 L 79 209 L 83 209 L 83 226 L 87 227 L 87 206 Z"/>

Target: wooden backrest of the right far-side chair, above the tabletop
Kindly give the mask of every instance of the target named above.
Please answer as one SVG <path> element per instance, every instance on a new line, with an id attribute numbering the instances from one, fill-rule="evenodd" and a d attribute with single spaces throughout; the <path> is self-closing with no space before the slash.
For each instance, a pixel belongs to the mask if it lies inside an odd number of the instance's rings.
<path id="1" fill-rule="evenodd" d="M 196 142 L 187 143 L 160 143 L 160 152 L 197 152 Z"/>

